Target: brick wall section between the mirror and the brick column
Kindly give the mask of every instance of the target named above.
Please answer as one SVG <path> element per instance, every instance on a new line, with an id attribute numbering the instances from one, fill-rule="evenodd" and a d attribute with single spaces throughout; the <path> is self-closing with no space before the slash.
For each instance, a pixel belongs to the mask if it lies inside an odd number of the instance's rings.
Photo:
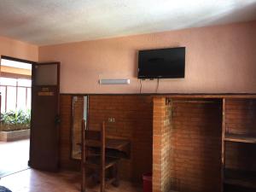
<path id="1" fill-rule="evenodd" d="M 108 137 L 131 141 L 131 159 L 121 160 L 120 177 L 142 181 L 144 172 L 152 171 L 152 118 L 151 96 L 90 96 L 89 127 L 99 129 L 106 122 Z M 108 118 L 115 122 L 109 123 Z"/>

